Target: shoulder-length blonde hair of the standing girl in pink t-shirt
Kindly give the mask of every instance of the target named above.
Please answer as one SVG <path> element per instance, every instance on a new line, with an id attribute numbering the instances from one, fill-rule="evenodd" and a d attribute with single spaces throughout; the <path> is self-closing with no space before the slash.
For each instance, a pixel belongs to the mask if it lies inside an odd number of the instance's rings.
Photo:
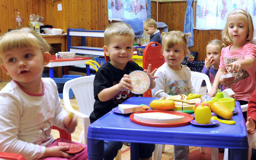
<path id="1" fill-rule="evenodd" d="M 225 28 L 221 32 L 223 41 L 233 43 L 233 41 L 231 40 L 231 38 L 229 37 L 229 34 L 228 34 L 228 18 L 232 15 L 237 15 L 237 14 L 240 14 L 242 16 L 242 18 L 244 18 L 244 21 L 246 22 L 246 25 L 248 27 L 249 34 L 248 34 L 246 40 L 252 41 L 253 34 L 254 34 L 254 26 L 252 23 L 252 17 L 249 14 L 249 12 L 247 12 L 243 9 L 235 9 L 228 14 Z"/>

